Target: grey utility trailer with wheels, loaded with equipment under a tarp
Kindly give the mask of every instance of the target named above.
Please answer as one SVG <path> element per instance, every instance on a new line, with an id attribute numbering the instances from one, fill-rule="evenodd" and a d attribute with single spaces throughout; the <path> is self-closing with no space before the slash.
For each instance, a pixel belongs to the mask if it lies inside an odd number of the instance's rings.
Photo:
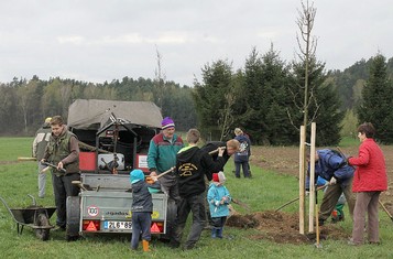
<path id="1" fill-rule="evenodd" d="M 68 128 L 81 143 L 81 175 L 79 196 L 67 198 L 67 239 L 132 233 L 130 171 L 149 174 L 149 143 L 161 120 L 160 108 L 149 101 L 78 99 L 70 105 Z M 151 233 L 162 235 L 176 209 L 165 193 L 152 198 Z"/>

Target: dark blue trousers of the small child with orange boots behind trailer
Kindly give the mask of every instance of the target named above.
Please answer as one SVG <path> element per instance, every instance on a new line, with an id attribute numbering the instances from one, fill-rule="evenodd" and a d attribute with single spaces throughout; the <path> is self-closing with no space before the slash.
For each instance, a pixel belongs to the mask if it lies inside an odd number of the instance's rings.
<path id="1" fill-rule="evenodd" d="M 132 212 L 132 237 L 131 237 L 131 249 L 137 249 L 138 244 L 142 234 L 142 239 L 150 241 L 151 233 L 150 226 L 152 225 L 152 214 L 151 213 L 139 213 Z"/>

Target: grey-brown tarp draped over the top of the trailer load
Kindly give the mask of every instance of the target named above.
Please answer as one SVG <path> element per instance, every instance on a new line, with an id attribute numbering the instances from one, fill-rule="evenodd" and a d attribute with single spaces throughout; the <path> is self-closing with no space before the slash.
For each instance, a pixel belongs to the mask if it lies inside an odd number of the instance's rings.
<path id="1" fill-rule="evenodd" d="M 161 128 L 160 108 L 151 101 L 120 101 L 77 99 L 68 108 L 67 126 L 83 130 L 98 130 L 111 122 L 110 117 L 124 123 Z"/>

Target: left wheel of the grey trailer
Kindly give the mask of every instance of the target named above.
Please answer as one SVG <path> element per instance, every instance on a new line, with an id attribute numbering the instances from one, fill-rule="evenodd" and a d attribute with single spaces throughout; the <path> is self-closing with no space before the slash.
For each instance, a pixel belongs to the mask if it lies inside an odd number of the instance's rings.
<path id="1" fill-rule="evenodd" d="M 67 226 L 66 226 L 66 240 L 76 240 L 79 237 L 80 225 L 80 197 L 67 197 Z"/>

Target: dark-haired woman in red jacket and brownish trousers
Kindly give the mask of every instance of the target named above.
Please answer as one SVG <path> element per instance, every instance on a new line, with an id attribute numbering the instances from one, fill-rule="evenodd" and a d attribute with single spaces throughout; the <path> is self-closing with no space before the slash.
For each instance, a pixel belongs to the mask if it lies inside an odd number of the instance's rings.
<path id="1" fill-rule="evenodd" d="M 363 244 L 365 213 L 368 213 L 367 231 L 370 244 L 379 244 L 378 205 L 380 194 L 387 190 L 385 159 L 382 150 L 373 140 L 375 129 L 370 122 L 358 127 L 358 138 L 361 142 L 359 155 L 349 158 L 348 163 L 357 165 L 352 191 L 357 193 L 353 211 L 352 238 L 349 245 Z"/>

